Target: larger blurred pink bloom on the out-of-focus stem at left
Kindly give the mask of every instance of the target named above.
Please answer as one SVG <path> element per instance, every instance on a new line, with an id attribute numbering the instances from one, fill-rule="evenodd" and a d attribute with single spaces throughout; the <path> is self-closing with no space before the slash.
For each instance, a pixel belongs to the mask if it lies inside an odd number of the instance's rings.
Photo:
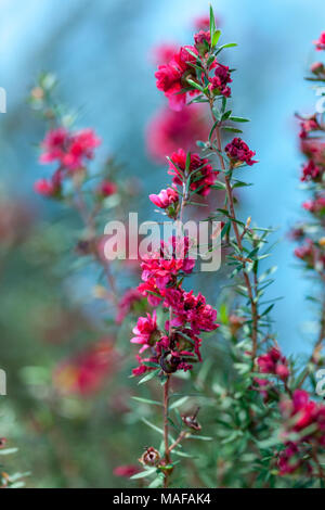
<path id="1" fill-rule="evenodd" d="M 69 132 L 60 127 L 46 136 L 39 161 L 42 164 L 57 162 L 63 168 L 74 170 L 82 167 L 86 160 L 91 160 L 100 144 L 101 140 L 92 129 Z"/>

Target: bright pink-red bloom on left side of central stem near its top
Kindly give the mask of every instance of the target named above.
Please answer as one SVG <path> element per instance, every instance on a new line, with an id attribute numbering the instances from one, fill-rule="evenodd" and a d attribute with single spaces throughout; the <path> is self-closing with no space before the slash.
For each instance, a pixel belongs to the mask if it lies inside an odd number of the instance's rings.
<path id="1" fill-rule="evenodd" d="M 169 64 L 159 65 L 158 71 L 155 73 L 157 89 L 165 93 L 169 100 L 169 106 L 177 112 L 182 110 L 186 103 L 187 93 L 180 93 L 183 88 L 188 87 L 186 78 L 196 79 L 195 69 L 190 65 L 195 63 L 196 59 L 188 53 L 187 49 L 197 54 L 196 48 L 183 47 L 173 55 Z M 190 92 L 190 94 L 196 93 L 197 90 Z"/>

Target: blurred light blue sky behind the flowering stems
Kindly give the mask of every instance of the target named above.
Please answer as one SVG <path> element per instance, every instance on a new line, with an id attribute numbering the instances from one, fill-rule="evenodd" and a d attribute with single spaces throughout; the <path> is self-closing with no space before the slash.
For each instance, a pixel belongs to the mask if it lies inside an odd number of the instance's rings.
<path id="1" fill-rule="evenodd" d="M 243 215 L 250 214 L 260 226 L 280 227 L 278 235 L 285 237 L 303 200 L 294 113 L 314 106 L 313 91 L 302 78 L 320 58 L 311 41 L 325 29 L 325 3 L 212 3 L 224 41 L 238 43 L 229 50 L 238 69 L 234 110 L 251 118 L 245 139 L 260 161 L 247 170 L 255 188 L 243 193 Z M 166 181 L 145 154 L 145 125 L 164 103 L 148 55 L 158 42 L 188 43 L 193 18 L 208 5 L 206 0 L 0 0 L 0 86 L 8 91 L 8 114 L 0 119 L 0 171 L 8 187 L 42 206 L 31 189 L 42 171 L 32 148 L 42 131 L 25 99 L 37 73 L 47 69 L 57 73 L 64 100 L 81 107 L 80 126 L 95 127 L 129 174 L 145 178 L 139 206 L 146 206 L 148 192 Z M 272 295 L 285 296 L 274 319 L 287 352 L 309 348 L 308 331 L 314 327 L 304 301 L 310 284 L 295 267 L 292 247 L 283 242 L 272 257 L 278 266 Z"/>

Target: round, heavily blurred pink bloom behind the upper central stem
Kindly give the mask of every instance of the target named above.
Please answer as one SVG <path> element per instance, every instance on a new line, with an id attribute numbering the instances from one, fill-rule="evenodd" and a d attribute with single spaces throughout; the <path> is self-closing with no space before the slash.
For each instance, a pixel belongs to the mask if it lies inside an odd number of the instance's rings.
<path id="1" fill-rule="evenodd" d="M 208 135 L 209 126 L 202 104 L 191 104 L 181 112 L 167 107 L 158 112 L 147 127 L 147 151 L 153 160 L 162 163 L 166 155 L 179 146 L 195 151 L 196 140 L 206 140 Z"/>

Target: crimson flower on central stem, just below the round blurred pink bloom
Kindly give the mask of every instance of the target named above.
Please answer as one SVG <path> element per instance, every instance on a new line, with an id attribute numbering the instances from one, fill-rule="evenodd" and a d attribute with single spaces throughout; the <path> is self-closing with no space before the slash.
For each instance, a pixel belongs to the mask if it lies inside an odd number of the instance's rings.
<path id="1" fill-rule="evenodd" d="M 183 149 L 179 149 L 171 154 L 168 174 L 173 176 L 172 182 L 182 186 L 186 170 L 191 176 L 190 189 L 197 194 L 207 196 L 211 186 L 214 184 L 218 173 L 213 171 L 209 160 L 199 157 L 198 154 L 191 153 L 190 166 L 186 169 L 187 154 Z"/>

